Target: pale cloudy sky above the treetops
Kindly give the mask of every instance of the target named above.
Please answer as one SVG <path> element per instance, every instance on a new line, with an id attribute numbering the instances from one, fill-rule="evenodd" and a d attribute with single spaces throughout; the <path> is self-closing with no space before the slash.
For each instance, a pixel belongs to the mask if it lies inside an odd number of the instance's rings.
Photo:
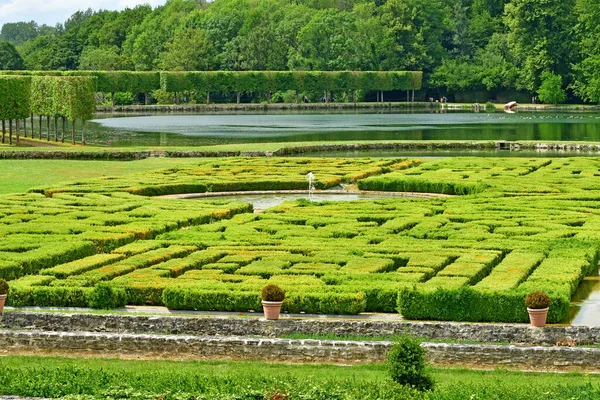
<path id="1" fill-rule="evenodd" d="M 152 7 L 165 0 L 0 0 L 0 26 L 6 22 L 35 21 L 39 25 L 65 22 L 78 10 L 122 10 L 138 4 Z"/>

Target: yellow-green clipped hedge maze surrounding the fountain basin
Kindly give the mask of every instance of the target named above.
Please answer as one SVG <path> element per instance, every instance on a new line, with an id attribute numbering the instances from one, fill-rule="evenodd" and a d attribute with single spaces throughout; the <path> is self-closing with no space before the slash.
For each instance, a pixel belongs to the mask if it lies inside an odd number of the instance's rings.
<path id="1" fill-rule="evenodd" d="M 434 199 L 239 202 L 144 195 L 357 183 Z M 526 321 L 524 296 L 568 313 L 597 268 L 600 159 L 210 159 L 147 175 L 0 197 L 0 274 L 13 305 L 400 312 L 412 319 Z"/>

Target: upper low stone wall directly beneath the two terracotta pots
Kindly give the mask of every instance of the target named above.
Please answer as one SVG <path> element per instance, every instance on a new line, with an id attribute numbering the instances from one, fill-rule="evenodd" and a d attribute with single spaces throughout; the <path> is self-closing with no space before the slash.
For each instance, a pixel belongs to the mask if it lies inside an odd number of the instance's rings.
<path id="1" fill-rule="evenodd" d="M 409 322 L 373 319 L 304 319 L 284 317 L 278 321 L 240 317 L 176 317 L 112 314 L 66 314 L 7 312 L 0 328 L 54 332 L 146 333 L 200 336 L 282 337 L 289 334 L 335 334 L 391 336 L 410 334 L 429 340 L 465 340 L 482 343 L 554 345 L 600 343 L 600 327 L 547 326 L 526 324 L 479 324 L 453 322 Z"/>

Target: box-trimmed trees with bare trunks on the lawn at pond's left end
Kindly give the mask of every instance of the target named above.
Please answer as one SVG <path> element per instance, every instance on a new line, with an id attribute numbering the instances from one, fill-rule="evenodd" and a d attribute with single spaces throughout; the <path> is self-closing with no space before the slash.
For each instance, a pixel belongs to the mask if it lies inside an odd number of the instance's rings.
<path id="1" fill-rule="evenodd" d="M 85 144 L 85 121 L 95 112 L 96 78 L 91 76 L 0 76 L 0 120 L 2 120 L 2 143 L 12 144 L 13 125 L 17 142 L 20 139 L 20 124 L 27 137 L 27 119 L 31 120 L 31 137 L 35 135 L 34 115 L 39 118 L 38 137 L 42 139 L 43 117 L 47 121 L 47 140 L 50 140 L 51 124 L 54 119 L 54 138 L 58 137 L 58 119 L 62 120 L 60 140 L 64 142 L 66 121 L 70 121 L 71 143 L 75 144 L 75 123 L 82 121 L 81 142 Z"/>

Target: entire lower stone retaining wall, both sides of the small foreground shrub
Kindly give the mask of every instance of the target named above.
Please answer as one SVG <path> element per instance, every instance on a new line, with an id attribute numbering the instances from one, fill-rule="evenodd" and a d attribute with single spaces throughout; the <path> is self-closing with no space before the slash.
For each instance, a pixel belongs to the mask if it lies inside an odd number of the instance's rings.
<path id="1" fill-rule="evenodd" d="M 143 359 L 266 360 L 299 363 L 373 363 L 391 342 L 292 340 L 191 335 L 0 331 L 0 354 Z M 504 366 L 531 370 L 600 370 L 600 349 L 423 343 L 435 365 Z"/>

